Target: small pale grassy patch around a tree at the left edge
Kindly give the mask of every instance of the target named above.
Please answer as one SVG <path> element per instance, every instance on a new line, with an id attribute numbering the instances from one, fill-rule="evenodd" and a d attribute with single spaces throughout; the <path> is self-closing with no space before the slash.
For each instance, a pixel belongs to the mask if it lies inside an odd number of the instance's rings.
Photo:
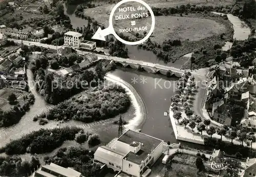
<path id="1" fill-rule="evenodd" d="M 21 90 L 15 90 L 10 88 L 4 88 L 0 90 L 0 109 L 2 110 L 10 110 L 11 105 L 8 102 L 8 96 L 11 95 L 11 93 L 14 93 L 17 97 L 17 101 L 21 102 L 23 100 L 23 95 L 26 92 L 23 92 Z"/>

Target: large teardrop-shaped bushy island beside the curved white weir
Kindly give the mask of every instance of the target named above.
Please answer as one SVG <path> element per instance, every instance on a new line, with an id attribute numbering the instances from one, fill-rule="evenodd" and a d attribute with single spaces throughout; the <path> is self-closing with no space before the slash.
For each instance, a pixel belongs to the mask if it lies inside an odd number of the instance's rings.
<path id="1" fill-rule="evenodd" d="M 130 98 L 119 85 L 97 88 L 80 96 L 59 103 L 39 117 L 50 120 L 78 120 L 93 122 L 124 113 L 130 106 Z"/>

